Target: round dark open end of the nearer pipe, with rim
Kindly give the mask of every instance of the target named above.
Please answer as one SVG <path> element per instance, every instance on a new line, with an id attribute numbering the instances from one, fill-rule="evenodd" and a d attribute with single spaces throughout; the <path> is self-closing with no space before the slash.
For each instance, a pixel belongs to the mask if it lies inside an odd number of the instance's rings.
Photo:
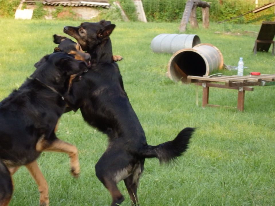
<path id="1" fill-rule="evenodd" d="M 187 81 L 187 76 L 203 76 L 206 64 L 203 57 L 194 51 L 182 51 L 177 54 L 170 64 L 171 77 L 176 81 Z"/>

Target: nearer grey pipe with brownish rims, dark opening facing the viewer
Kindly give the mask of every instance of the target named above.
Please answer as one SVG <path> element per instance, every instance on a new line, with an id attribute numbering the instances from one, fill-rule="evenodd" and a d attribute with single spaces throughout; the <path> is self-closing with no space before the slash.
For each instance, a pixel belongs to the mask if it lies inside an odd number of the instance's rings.
<path id="1" fill-rule="evenodd" d="M 168 63 L 168 76 L 171 80 L 186 82 L 187 76 L 209 75 L 223 68 L 221 51 L 208 43 L 201 43 L 192 49 L 181 49 Z"/>

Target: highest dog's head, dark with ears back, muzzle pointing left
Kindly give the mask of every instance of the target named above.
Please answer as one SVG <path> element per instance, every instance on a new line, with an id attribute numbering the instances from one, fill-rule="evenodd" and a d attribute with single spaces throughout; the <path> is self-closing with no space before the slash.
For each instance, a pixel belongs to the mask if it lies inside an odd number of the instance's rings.
<path id="1" fill-rule="evenodd" d="M 84 22 L 78 27 L 65 26 L 64 33 L 74 37 L 85 51 L 94 49 L 111 35 L 115 24 L 101 20 L 97 23 Z"/>

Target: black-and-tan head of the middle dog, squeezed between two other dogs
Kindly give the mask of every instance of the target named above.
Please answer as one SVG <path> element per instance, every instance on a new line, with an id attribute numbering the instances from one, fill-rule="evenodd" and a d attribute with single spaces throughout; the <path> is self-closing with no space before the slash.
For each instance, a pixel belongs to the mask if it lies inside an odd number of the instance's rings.
<path id="1" fill-rule="evenodd" d="M 54 35 L 54 43 L 58 44 L 58 47 L 54 48 L 54 53 L 65 52 L 67 54 L 74 55 L 76 60 L 81 60 L 87 63 L 87 66 L 91 65 L 91 56 L 82 50 L 79 43 L 72 41 L 64 36 Z"/>

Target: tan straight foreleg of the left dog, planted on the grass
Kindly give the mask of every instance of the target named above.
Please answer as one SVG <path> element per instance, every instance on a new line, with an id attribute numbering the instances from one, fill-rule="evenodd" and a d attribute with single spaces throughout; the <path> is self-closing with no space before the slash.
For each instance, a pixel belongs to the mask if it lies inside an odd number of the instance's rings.
<path id="1" fill-rule="evenodd" d="M 40 192 L 40 206 L 48 206 L 49 205 L 49 191 L 48 191 L 48 184 L 46 179 L 44 178 L 42 172 L 40 171 L 38 164 L 36 161 L 25 165 L 32 175 L 33 179 L 36 181 L 38 185 L 38 190 Z"/>

